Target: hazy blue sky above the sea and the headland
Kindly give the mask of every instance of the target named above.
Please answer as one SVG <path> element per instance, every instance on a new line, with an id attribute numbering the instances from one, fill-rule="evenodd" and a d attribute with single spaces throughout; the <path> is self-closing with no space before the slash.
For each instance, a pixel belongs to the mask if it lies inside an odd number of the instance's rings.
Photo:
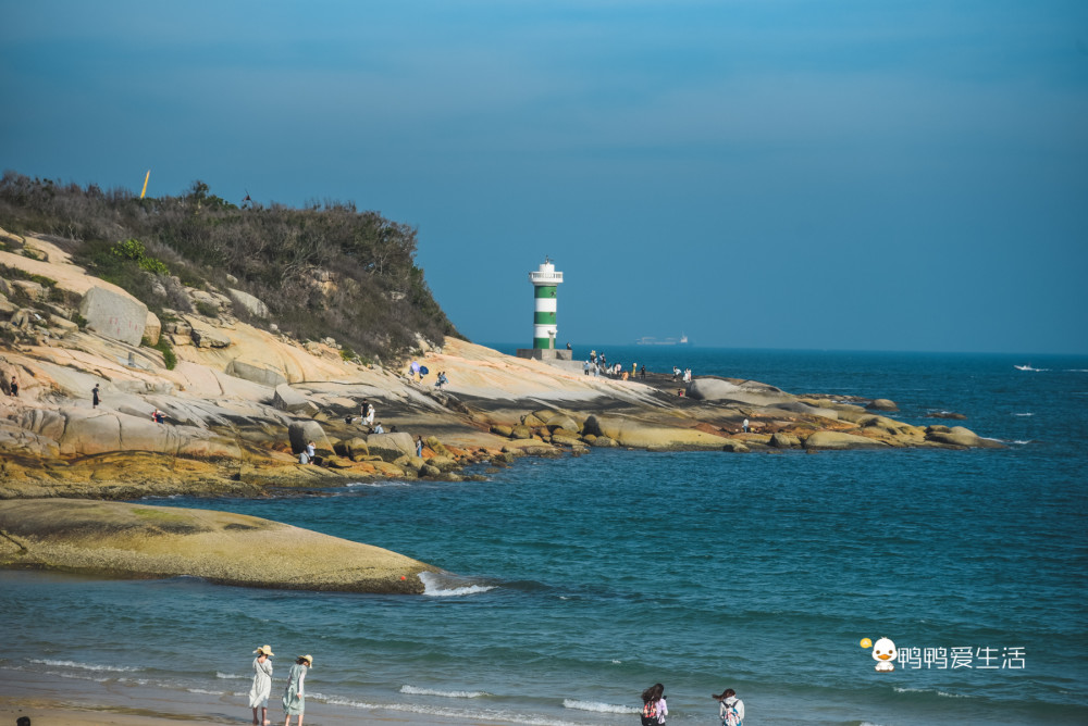
<path id="1" fill-rule="evenodd" d="M 355 201 L 468 337 L 1088 353 L 1084 0 L 0 0 L 0 166 Z"/>

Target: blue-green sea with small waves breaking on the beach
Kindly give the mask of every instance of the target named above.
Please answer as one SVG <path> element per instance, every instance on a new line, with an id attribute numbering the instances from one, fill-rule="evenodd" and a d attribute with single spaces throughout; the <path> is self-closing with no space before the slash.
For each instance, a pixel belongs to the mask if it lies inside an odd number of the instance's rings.
<path id="1" fill-rule="evenodd" d="M 904 422 L 1003 447 L 594 449 L 480 466 L 483 481 L 147 500 L 436 572 L 423 596 L 0 572 L 2 680 L 245 723 L 251 652 L 269 643 L 274 693 L 313 656 L 308 726 L 630 725 L 657 683 L 670 724 L 719 723 L 710 696 L 726 688 L 746 726 L 1088 724 L 1088 358 L 597 349 L 628 367 L 888 398 Z M 930 417 L 949 412 L 966 420 Z M 891 672 L 876 671 L 881 638 Z"/>

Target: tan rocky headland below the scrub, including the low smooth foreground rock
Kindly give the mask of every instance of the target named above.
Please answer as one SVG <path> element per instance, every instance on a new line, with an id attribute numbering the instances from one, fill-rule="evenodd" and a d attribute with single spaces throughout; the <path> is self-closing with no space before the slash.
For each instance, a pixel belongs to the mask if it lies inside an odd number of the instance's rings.
<path id="1" fill-rule="evenodd" d="M 264 302 L 242 290 L 175 280 L 198 312 L 165 308 L 160 317 L 49 240 L 0 230 L 0 241 L 5 566 L 418 592 L 418 574 L 434 567 L 384 550 L 252 517 L 120 500 L 458 479 L 522 455 L 601 447 L 728 455 L 998 446 L 960 426 L 898 421 L 883 399 L 794 396 L 718 377 L 696 377 L 678 397 L 668 374 L 586 376 L 580 364 L 510 358 L 452 337 L 419 337 L 396 364 L 366 363 L 332 338 L 280 331 Z M 431 372 L 422 381 L 409 375 L 412 360 Z M 442 389 L 440 371 L 449 379 Z M 386 433 L 363 424 L 363 401 Z M 152 421 L 156 410 L 164 423 Z M 318 464 L 299 463 L 308 441 Z M 307 546 L 286 547 L 296 540 Z M 284 554 L 275 562 L 257 554 L 270 548 Z M 336 571 L 321 571 L 320 560 L 299 554 L 307 551 L 332 558 Z"/>

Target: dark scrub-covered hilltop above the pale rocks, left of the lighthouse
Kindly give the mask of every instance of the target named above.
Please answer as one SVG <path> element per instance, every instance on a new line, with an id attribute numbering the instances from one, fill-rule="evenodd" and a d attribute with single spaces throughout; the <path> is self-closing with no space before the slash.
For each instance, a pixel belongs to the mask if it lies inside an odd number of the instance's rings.
<path id="1" fill-rule="evenodd" d="M 408 350 L 417 333 L 458 335 L 416 265 L 416 229 L 350 202 L 239 208 L 202 182 L 182 197 L 141 200 L 5 172 L 0 227 L 48 236 L 156 312 L 191 312 L 183 286 L 239 289 L 262 300 L 281 329 L 331 336 L 364 359 Z"/>

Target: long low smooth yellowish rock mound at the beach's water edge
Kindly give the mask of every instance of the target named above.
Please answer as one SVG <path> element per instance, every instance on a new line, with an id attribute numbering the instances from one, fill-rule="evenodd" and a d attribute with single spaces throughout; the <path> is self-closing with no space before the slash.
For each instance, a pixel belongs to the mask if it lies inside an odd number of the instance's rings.
<path id="1" fill-rule="evenodd" d="M 421 593 L 429 565 L 228 512 L 77 499 L 0 501 L 0 564 L 125 577 L 188 575 L 292 590 Z"/>

